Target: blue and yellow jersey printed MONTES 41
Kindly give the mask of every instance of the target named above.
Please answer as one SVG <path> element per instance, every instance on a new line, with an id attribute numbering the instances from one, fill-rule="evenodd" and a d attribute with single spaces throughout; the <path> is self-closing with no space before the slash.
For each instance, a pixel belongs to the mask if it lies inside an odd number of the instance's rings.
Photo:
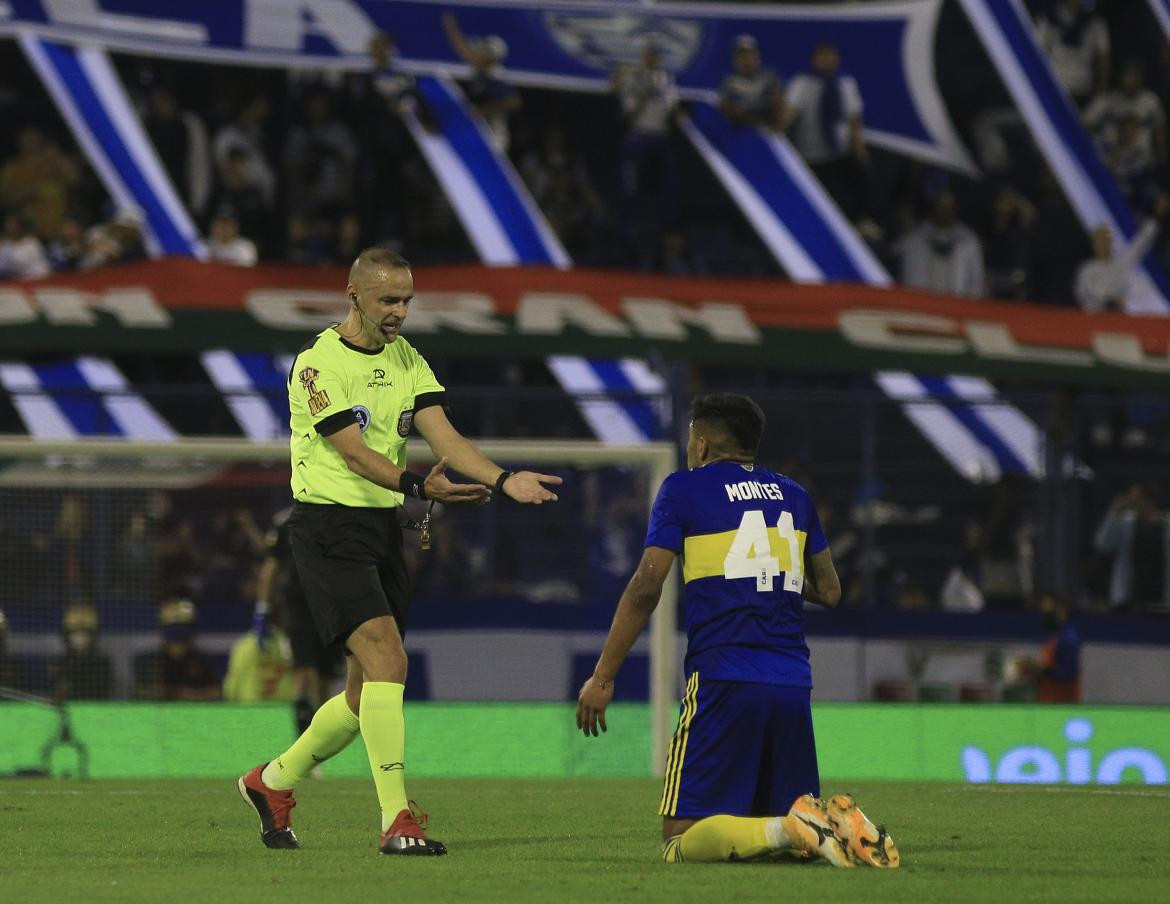
<path id="1" fill-rule="evenodd" d="M 828 543 L 800 484 L 735 462 L 672 474 L 646 546 L 682 554 L 688 675 L 812 686 L 804 561 Z"/>

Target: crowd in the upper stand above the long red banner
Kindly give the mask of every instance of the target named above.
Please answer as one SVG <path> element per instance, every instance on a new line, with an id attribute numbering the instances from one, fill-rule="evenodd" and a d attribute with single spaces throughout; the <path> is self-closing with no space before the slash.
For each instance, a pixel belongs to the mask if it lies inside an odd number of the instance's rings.
<path id="1" fill-rule="evenodd" d="M 1030 4 L 1058 78 L 1138 220 L 1129 248 L 1087 240 L 1002 89 L 972 80 L 969 26 L 944 9 L 938 82 L 984 177 L 968 179 L 868 146 L 866 85 L 835 47 L 818 46 L 783 81 L 751 35 L 728 48 L 721 109 L 736 124 L 785 132 L 859 233 L 908 285 L 1086 310 L 1119 306 L 1145 251 L 1170 265 L 1165 103 L 1170 53 L 1144 5 Z M 670 274 L 777 275 L 702 163 L 681 140 L 684 115 L 653 43 L 619 65 L 608 97 L 518 90 L 500 77 L 508 48 L 466 35 L 463 90 L 580 264 Z M 763 48 L 766 50 L 766 48 Z M 764 54 L 766 56 L 766 53 Z M 39 276 L 142 256 L 140 219 L 118 211 L 76 150 L 13 42 L 0 112 L 0 274 Z M 370 68 L 336 74 L 239 70 L 118 57 L 147 134 L 206 236 L 213 260 L 344 263 L 372 242 L 414 261 L 473 258 L 404 120 L 427 125 L 394 40 Z M 687 192 L 679 187 L 687 185 Z"/>

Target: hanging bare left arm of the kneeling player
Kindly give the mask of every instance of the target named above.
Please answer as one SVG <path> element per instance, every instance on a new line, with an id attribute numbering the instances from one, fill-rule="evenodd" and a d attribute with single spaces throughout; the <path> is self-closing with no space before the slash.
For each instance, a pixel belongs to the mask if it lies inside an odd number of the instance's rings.
<path id="1" fill-rule="evenodd" d="M 610 626 L 610 635 L 597 661 L 593 675 L 577 695 L 577 727 L 586 736 L 597 737 L 598 727 L 606 731 L 605 708 L 613 699 L 613 682 L 621 663 L 629 655 L 634 641 L 642 633 L 662 596 L 662 585 L 670 573 L 675 553 L 660 546 L 647 546 L 634 577 L 629 579 L 618 610 Z"/>

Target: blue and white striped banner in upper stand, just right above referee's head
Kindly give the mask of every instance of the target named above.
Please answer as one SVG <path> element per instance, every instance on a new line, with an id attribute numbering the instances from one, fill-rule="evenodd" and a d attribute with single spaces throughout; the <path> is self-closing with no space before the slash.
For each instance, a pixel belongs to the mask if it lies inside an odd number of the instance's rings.
<path id="1" fill-rule="evenodd" d="M 413 115 L 407 125 L 480 260 L 569 267 L 560 240 L 459 87 L 446 77 L 421 77 L 418 85 L 440 132 L 428 132 Z"/>

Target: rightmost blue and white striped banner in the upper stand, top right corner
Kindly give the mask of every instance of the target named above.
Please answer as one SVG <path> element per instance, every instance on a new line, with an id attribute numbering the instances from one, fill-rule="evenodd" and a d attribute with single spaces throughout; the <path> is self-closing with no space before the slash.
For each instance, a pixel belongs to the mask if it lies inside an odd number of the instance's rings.
<path id="1" fill-rule="evenodd" d="M 1023 4 L 961 2 L 1081 226 L 1086 232 L 1108 226 L 1120 239 L 1131 241 L 1137 233 L 1134 216 L 1045 60 Z M 1143 313 L 1170 310 L 1165 274 L 1147 260 L 1136 276 L 1127 308 Z"/>

